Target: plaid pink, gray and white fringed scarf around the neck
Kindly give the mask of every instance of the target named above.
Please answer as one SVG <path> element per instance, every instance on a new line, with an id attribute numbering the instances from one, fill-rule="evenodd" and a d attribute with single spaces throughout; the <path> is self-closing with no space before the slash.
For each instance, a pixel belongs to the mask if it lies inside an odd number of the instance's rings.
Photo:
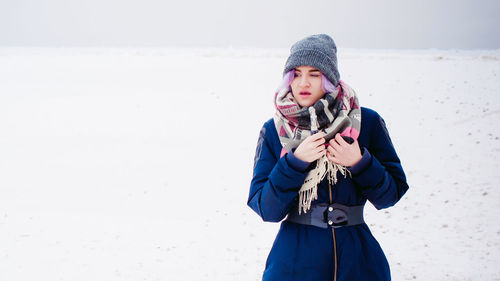
<path id="1" fill-rule="evenodd" d="M 275 96 L 276 115 L 274 124 L 283 149 L 280 157 L 297 148 L 307 137 L 322 130 L 326 141 L 337 133 L 352 143 L 359 136 L 361 110 L 354 90 L 340 81 L 335 91 L 326 93 L 315 104 L 301 107 L 290 91 L 285 87 Z M 328 177 L 330 184 L 337 182 L 337 172 L 345 177 L 349 172 L 346 167 L 335 164 L 323 156 L 316 161 L 314 169 L 309 171 L 299 190 L 299 214 L 311 208 L 313 200 L 318 199 L 318 184 Z"/>

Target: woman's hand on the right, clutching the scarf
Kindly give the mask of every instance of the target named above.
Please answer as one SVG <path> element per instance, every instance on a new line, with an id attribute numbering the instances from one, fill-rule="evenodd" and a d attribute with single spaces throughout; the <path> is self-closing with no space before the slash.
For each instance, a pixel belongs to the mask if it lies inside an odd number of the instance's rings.
<path id="1" fill-rule="evenodd" d="M 352 167 L 361 160 L 361 150 L 357 140 L 349 144 L 340 134 L 336 134 L 329 144 L 326 156 L 333 163 Z"/>

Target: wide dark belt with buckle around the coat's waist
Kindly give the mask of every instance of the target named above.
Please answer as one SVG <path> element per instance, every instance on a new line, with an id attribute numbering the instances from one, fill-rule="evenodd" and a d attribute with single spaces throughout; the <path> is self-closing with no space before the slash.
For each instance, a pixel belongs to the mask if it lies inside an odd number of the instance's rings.
<path id="1" fill-rule="evenodd" d="M 364 205 L 348 207 L 338 203 L 316 204 L 307 213 L 302 211 L 300 215 L 298 208 L 294 207 L 285 220 L 321 228 L 339 228 L 364 223 L 363 207 Z"/>

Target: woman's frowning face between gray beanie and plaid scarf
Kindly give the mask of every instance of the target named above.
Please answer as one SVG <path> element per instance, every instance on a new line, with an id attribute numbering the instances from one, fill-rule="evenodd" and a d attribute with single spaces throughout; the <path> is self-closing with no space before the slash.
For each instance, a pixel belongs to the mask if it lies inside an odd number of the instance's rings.
<path id="1" fill-rule="evenodd" d="M 321 87 L 321 72 L 312 66 L 296 67 L 290 86 L 293 97 L 302 107 L 313 105 L 325 95 Z"/>

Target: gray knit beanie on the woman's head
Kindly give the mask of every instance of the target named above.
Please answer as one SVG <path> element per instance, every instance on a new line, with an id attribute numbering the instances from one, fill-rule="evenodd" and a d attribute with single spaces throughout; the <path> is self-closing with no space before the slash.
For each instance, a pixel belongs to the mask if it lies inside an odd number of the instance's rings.
<path id="1" fill-rule="evenodd" d="M 339 84 L 337 68 L 337 46 L 326 34 L 306 37 L 290 48 L 290 56 L 286 60 L 283 75 L 302 65 L 317 68 L 334 86 Z"/>

